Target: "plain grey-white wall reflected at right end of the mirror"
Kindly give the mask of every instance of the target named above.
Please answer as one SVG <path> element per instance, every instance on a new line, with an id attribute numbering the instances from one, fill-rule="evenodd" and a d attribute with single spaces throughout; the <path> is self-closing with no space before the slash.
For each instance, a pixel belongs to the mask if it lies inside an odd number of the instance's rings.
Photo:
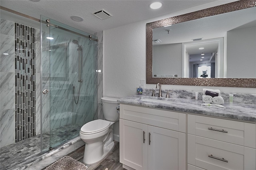
<path id="1" fill-rule="evenodd" d="M 227 77 L 256 78 L 256 27 L 227 32 Z"/>

